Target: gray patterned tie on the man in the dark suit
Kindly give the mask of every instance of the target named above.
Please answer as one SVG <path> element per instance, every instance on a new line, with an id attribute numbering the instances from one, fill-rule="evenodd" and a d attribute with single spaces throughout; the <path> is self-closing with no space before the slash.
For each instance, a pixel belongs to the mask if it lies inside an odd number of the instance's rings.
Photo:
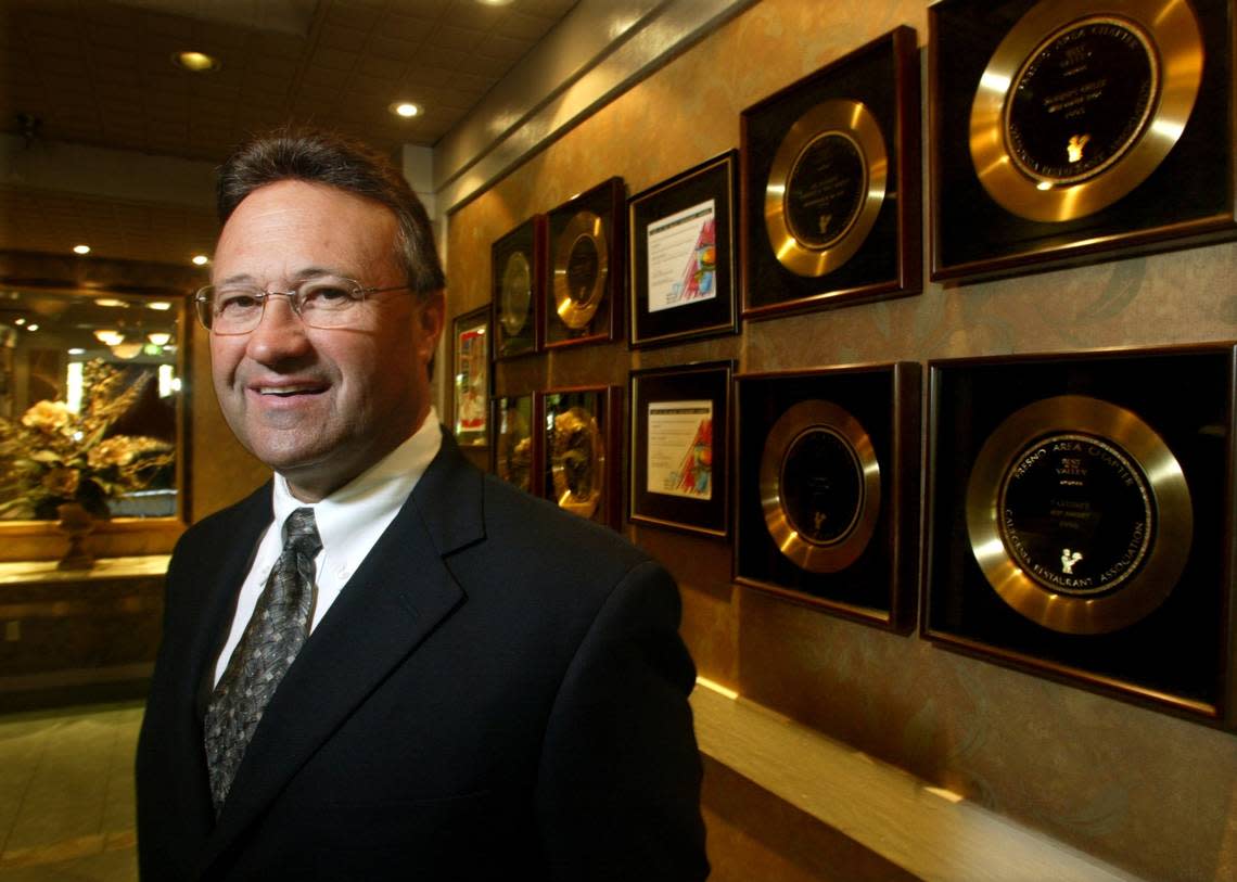
<path id="1" fill-rule="evenodd" d="M 207 705 L 207 768 L 216 813 L 262 711 L 309 636 L 313 560 L 322 550 L 313 508 L 288 515 L 283 536 L 280 559 Z"/>

